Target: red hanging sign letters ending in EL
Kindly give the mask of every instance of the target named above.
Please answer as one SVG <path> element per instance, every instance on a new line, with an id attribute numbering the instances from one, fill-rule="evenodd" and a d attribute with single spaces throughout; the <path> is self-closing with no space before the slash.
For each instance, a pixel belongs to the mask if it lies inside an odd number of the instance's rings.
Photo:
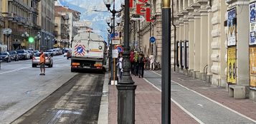
<path id="1" fill-rule="evenodd" d="M 143 15 L 145 14 L 142 11 L 146 11 L 146 21 L 153 22 L 151 19 L 151 8 L 150 7 L 143 7 L 146 6 L 146 2 L 148 0 L 138 0 L 139 4 L 136 4 L 136 14 Z M 130 8 L 133 8 L 133 0 L 130 0 Z"/>

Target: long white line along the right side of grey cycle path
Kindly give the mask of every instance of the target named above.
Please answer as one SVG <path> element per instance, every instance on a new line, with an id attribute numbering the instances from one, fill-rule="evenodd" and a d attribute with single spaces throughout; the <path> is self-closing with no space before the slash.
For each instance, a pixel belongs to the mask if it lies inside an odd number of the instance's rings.
<path id="1" fill-rule="evenodd" d="M 156 73 L 156 72 L 154 72 L 154 71 L 152 71 L 152 72 L 153 72 L 153 73 Z M 156 73 L 156 74 L 157 74 L 158 76 L 161 76 L 161 74 L 159 74 L 159 73 Z M 171 80 L 171 81 L 172 81 L 172 80 Z M 148 81 L 147 81 L 147 82 L 148 82 Z M 181 86 L 181 87 L 183 87 L 183 88 L 186 88 L 186 86 L 182 86 L 181 84 L 177 83 L 176 81 L 172 81 L 172 82 L 178 84 L 179 86 Z M 153 84 L 152 84 L 152 85 L 153 85 Z M 155 87 L 155 88 L 156 88 L 156 87 Z M 213 103 L 216 103 L 217 105 L 220 105 L 220 106 L 222 106 L 223 108 L 226 108 L 227 110 L 230 110 L 230 111 L 232 111 L 233 113 L 236 113 L 237 115 L 240 115 L 240 116 L 242 116 L 243 118 L 247 118 L 248 120 L 251 120 L 252 122 L 256 123 L 256 120 L 253 120 L 252 118 L 247 117 L 246 115 L 243 115 L 242 113 L 239 113 L 239 112 L 237 112 L 236 110 L 232 110 L 231 108 L 229 108 L 229 107 L 227 107 L 227 106 L 225 106 L 225 105 L 222 105 L 221 103 L 219 103 L 219 102 L 217 102 L 217 101 L 215 101 L 215 100 L 212 100 L 211 98 L 208 98 L 207 96 L 202 95 L 201 93 L 197 93 L 196 91 L 193 91 L 193 90 L 191 90 L 191 89 L 189 89 L 189 88 L 186 88 L 186 90 L 189 90 L 189 91 L 191 91 L 191 92 L 194 92 L 194 93 L 196 93 L 196 94 L 202 96 L 203 98 L 206 98 L 207 100 L 210 100 L 210 101 L 212 101 Z"/>

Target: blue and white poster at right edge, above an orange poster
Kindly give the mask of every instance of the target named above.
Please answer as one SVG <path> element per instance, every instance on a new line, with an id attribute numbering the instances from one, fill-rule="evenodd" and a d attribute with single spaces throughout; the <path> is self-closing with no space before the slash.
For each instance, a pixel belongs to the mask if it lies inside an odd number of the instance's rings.
<path id="1" fill-rule="evenodd" d="M 255 43 L 255 3 L 250 4 L 250 45 Z"/>

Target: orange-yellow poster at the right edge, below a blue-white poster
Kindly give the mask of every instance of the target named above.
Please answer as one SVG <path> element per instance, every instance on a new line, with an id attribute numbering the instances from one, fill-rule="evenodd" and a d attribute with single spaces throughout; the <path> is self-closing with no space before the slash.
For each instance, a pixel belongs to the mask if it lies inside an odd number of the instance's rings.
<path id="1" fill-rule="evenodd" d="M 256 86 L 256 47 L 250 47 L 250 86 Z"/>

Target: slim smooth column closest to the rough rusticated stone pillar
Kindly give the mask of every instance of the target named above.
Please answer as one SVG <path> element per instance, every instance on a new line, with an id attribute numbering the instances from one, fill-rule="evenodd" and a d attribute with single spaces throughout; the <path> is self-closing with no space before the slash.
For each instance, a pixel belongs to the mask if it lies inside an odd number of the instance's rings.
<path id="1" fill-rule="evenodd" d="M 207 59 L 207 82 L 211 82 L 211 77 L 212 77 L 212 71 L 211 71 L 211 67 L 212 67 L 212 59 L 211 59 L 211 55 L 212 55 L 212 7 L 209 6 L 209 4 L 207 5 L 207 10 L 208 10 L 208 59 Z"/>

